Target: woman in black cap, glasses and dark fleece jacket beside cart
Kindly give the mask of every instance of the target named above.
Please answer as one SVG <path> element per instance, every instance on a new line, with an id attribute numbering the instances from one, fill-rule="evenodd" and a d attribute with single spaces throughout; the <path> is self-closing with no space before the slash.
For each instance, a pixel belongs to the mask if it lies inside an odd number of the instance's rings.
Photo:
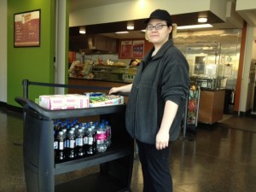
<path id="1" fill-rule="evenodd" d="M 172 192 L 170 142 L 179 136 L 189 64 L 173 45 L 172 18 L 166 10 L 156 9 L 145 23 L 154 48 L 141 61 L 133 83 L 113 87 L 109 94 L 130 92 L 125 124 L 137 141 L 143 192 Z"/>

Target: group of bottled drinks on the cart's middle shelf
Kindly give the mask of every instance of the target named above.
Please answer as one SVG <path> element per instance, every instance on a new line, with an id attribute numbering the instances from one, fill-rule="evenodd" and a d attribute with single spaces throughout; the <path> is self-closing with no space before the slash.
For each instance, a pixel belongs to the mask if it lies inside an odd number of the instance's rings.
<path id="1" fill-rule="evenodd" d="M 75 160 L 103 153 L 111 145 L 111 126 L 108 121 L 81 123 L 79 119 L 56 119 L 55 162 Z"/>

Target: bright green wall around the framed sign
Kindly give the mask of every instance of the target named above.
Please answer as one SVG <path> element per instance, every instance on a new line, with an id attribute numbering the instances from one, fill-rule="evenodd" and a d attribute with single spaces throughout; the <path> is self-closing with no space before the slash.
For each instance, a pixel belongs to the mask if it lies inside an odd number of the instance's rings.
<path id="1" fill-rule="evenodd" d="M 14 47 L 14 14 L 41 9 L 40 47 Z M 54 82 L 55 55 L 55 1 L 8 0 L 8 67 L 7 103 L 15 102 L 15 96 L 23 96 L 22 79 L 35 82 Z M 66 64 L 67 65 L 67 64 Z M 53 94 L 53 88 L 30 86 L 29 98 Z"/>

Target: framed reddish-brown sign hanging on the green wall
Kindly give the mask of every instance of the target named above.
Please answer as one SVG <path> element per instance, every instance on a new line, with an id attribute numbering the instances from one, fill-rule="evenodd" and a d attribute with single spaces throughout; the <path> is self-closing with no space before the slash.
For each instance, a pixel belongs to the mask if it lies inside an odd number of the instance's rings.
<path id="1" fill-rule="evenodd" d="M 40 9 L 14 15 L 14 46 L 40 46 Z"/>

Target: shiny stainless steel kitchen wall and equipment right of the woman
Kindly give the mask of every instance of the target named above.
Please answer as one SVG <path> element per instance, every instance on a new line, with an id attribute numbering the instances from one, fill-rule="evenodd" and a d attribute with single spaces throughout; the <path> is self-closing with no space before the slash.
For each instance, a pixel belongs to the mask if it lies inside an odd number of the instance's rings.
<path id="1" fill-rule="evenodd" d="M 173 41 L 189 62 L 189 76 L 204 89 L 236 87 L 241 30 L 178 32 Z"/>

